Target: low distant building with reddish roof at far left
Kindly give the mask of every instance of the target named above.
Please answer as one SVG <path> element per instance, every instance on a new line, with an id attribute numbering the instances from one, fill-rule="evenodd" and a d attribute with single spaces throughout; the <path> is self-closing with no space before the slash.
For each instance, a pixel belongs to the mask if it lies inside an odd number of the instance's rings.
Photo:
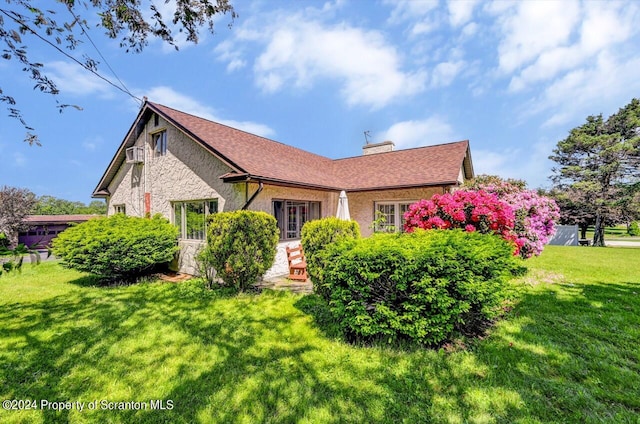
<path id="1" fill-rule="evenodd" d="M 26 231 L 18 233 L 18 243 L 33 249 L 46 249 L 58 234 L 74 224 L 80 224 L 100 215 L 29 215 Z"/>

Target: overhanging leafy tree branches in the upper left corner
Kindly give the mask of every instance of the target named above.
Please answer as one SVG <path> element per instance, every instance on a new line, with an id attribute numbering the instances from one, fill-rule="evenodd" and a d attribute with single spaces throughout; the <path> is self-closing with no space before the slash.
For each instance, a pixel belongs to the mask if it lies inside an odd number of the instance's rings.
<path id="1" fill-rule="evenodd" d="M 79 60 L 71 55 L 82 42 L 81 38 L 88 37 L 89 24 L 85 17 L 90 21 L 98 18 L 96 26 L 102 28 L 109 38 L 119 38 L 120 47 L 127 52 L 141 52 L 149 37 L 160 38 L 177 49 L 174 31 L 186 34 L 187 41 L 197 43 L 203 26 L 213 32 L 217 16 L 230 14 L 232 22 L 237 17 L 230 0 L 174 0 L 175 11 L 168 18 L 162 16 L 153 2 L 145 2 L 148 10 L 144 10 L 140 0 L 58 0 L 57 4 L 47 2 L 46 9 L 40 9 L 41 2 L 33 0 L 6 0 L 5 3 L 0 7 L 2 58 L 17 61 L 35 82 L 34 89 L 52 95 L 58 94 L 58 88 L 43 72 L 44 65 L 30 59 L 27 38 L 33 37 L 32 40 L 49 44 L 87 71 L 106 80 L 98 73 L 98 61 L 86 56 Z M 122 87 L 117 88 L 126 91 Z M 32 133 L 34 129 L 25 121 L 16 100 L 4 93 L 2 87 L 0 102 L 7 104 L 9 116 L 18 119 L 27 130 L 25 141 L 39 145 L 37 135 Z M 58 103 L 57 107 L 62 111 L 69 106 L 73 105 Z"/>

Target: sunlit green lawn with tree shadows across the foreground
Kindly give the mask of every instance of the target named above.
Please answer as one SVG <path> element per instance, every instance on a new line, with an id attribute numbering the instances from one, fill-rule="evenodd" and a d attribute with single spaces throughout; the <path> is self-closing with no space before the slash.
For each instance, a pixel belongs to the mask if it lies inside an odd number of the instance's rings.
<path id="1" fill-rule="evenodd" d="M 639 259 L 548 247 L 486 338 L 408 352 L 340 341 L 314 296 L 101 288 L 26 265 L 0 277 L 0 400 L 84 410 L 0 410 L 0 422 L 638 423 Z"/>

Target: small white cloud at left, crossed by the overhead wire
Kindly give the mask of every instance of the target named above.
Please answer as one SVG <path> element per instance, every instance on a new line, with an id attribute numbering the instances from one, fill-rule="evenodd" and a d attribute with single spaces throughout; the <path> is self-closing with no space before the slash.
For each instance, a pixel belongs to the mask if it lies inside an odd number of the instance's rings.
<path id="1" fill-rule="evenodd" d="M 46 69 L 58 89 L 65 94 L 98 95 L 103 98 L 110 98 L 114 94 L 114 87 L 78 64 L 56 61 L 48 63 Z"/>

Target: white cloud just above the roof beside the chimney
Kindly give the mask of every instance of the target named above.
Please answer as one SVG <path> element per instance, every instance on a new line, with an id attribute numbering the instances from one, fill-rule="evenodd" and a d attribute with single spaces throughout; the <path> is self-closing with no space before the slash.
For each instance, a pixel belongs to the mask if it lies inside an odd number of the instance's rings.
<path id="1" fill-rule="evenodd" d="M 395 123 L 384 131 L 382 139 L 391 140 L 398 148 L 406 149 L 454 141 L 456 133 L 444 118 L 431 116 L 418 121 Z"/>

